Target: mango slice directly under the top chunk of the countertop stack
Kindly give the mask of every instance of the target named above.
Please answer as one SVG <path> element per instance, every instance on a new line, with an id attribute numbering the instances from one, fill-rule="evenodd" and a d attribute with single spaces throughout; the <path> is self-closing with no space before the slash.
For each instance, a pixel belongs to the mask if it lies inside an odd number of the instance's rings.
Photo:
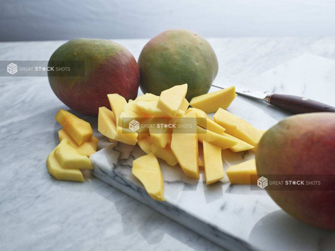
<path id="1" fill-rule="evenodd" d="M 90 141 L 84 142 L 78 145 L 77 142 L 72 139 L 72 137 L 66 132 L 65 128 L 58 131 L 59 142 L 62 139 L 66 139 L 79 153 L 89 157 L 91 154 L 96 152 L 96 147 L 98 146 L 99 140 L 92 136 Z"/>

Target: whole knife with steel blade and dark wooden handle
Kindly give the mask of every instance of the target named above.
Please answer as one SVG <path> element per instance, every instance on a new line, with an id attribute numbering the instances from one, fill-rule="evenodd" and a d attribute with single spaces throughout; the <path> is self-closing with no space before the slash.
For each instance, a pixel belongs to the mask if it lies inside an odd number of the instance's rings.
<path id="1" fill-rule="evenodd" d="M 268 93 L 268 91 L 260 90 L 255 87 L 230 82 L 224 82 L 220 85 L 222 86 L 217 85 L 212 86 L 224 89 L 233 85 L 235 86 L 235 92 L 238 94 L 263 100 L 280 109 L 290 111 L 293 113 L 306 113 L 306 112 L 319 112 L 319 111 L 335 112 L 335 107 L 305 97 Z"/>

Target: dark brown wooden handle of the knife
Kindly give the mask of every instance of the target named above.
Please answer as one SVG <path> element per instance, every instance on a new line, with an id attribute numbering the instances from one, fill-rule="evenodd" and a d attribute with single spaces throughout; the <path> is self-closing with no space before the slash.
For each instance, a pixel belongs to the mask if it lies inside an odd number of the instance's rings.
<path id="1" fill-rule="evenodd" d="M 275 94 L 269 96 L 268 102 L 278 108 L 293 113 L 332 111 L 335 112 L 335 107 L 304 97 Z"/>

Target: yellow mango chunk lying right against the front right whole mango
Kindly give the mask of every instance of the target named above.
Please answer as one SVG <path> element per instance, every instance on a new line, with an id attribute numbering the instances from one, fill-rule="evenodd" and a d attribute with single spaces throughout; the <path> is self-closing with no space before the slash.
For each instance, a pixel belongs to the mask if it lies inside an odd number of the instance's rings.
<path id="1" fill-rule="evenodd" d="M 257 174 L 255 159 L 230 166 L 226 170 L 226 174 L 231 184 L 257 184 L 257 176 L 250 176 Z M 252 178 L 250 179 L 250 177 Z"/>

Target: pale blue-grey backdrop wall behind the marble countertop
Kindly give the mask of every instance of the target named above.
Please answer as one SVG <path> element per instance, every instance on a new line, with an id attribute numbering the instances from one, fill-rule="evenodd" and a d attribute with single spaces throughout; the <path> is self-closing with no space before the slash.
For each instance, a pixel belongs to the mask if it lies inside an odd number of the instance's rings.
<path id="1" fill-rule="evenodd" d="M 0 40 L 335 35 L 333 0 L 0 0 Z"/>

